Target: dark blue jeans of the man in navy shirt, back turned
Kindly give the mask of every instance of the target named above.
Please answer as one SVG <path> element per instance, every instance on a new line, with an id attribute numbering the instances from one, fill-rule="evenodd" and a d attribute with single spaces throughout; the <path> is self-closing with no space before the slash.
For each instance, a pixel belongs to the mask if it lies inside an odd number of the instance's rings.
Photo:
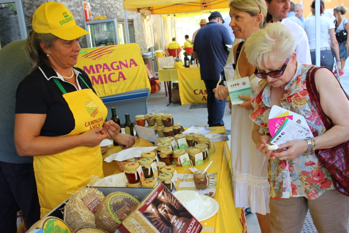
<path id="1" fill-rule="evenodd" d="M 206 85 L 207 90 L 207 113 L 208 113 L 208 121 L 207 124 L 209 127 L 212 126 L 224 126 L 223 116 L 225 109 L 224 100 L 217 100 L 214 97 L 214 92 L 212 91 L 216 88 L 218 80 L 203 80 Z M 224 85 L 224 81 L 220 83 L 220 85 Z"/>

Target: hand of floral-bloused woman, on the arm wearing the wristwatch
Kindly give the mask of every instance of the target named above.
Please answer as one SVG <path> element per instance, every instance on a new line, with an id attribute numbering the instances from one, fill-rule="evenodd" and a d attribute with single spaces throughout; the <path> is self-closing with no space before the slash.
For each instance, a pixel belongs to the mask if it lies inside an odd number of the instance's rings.
<path id="1" fill-rule="evenodd" d="M 282 150 L 287 149 L 287 150 Z M 280 151 L 281 152 L 277 152 Z M 279 150 L 273 150 L 271 156 L 279 160 L 295 159 L 308 150 L 306 140 L 293 140 L 279 145 Z"/>

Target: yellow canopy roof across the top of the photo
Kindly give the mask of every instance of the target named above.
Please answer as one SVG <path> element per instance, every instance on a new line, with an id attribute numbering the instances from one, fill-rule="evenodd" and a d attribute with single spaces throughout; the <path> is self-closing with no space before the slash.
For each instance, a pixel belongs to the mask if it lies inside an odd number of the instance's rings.
<path id="1" fill-rule="evenodd" d="M 149 10 L 151 14 L 164 15 L 228 8 L 229 2 L 229 0 L 124 0 L 124 9 Z"/>

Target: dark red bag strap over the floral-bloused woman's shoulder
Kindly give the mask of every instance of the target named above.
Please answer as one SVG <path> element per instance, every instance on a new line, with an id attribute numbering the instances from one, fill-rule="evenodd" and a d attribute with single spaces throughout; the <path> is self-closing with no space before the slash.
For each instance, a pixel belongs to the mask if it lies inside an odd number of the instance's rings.
<path id="1" fill-rule="evenodd" d="M 329 117 L 326 116 L 326 114 L 323 112 L 321 105 L 320 105 L 320 95 L 317 91 L 317 87 L 315 84 L 315 72 L 319 68 L 327 68 L 328 70 L 331 71 L 331 69 L 329 69 L 328 67 L 317 67 L 317 66 L 310 67 L 310 69 L 308 70 L 307 76 L 306 76 L 306 87 L 307 87 L 307 91 L 309 93 L 310 100 L 312 101 L 312 103 L 313 103 L 318 115 L 320 116 L 321 121 L 324 124 L 326 131 L 327 131 L 333 126 L 333 123 L 329 120 Z M 338 80 L 337 80 L 337 82 L 339 83 Z M 345 90 L 343 89 L 343 87 L 340 83 L 339 83 L 339 85 L 342 88 L 347 99 L 349 100 L 348 94 L 345 92 Z"/>

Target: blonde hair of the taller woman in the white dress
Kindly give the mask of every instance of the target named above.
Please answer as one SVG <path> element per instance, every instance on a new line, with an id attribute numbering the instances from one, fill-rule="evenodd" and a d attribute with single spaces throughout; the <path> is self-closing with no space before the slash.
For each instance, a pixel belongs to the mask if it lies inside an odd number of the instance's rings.
<path id="1" fill-rule="evenodd" d="M 264 28 L 267 24 L 266 17 L 268 12 L 267 3 L 265 0 L 232 0 L 229 7 L 234 7 L 239 11 L 244 11 L 251 16 L 262 14 L 262 22 L 259 24 L 260 28 Z"/>

